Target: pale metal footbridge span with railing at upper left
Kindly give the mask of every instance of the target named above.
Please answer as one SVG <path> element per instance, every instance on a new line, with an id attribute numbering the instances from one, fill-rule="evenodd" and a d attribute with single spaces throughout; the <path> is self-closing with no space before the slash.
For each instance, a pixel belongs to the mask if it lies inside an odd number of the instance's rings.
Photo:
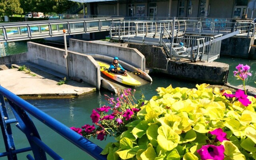
<path id="1" fill-rule="evenodd" d="M 62 36 L 64 29 L 67 35 L 107 31 L 110 30 L 110 22 L 123 19 L 104 17 L 5 23 L 0 25 L 0 42 Z"/>

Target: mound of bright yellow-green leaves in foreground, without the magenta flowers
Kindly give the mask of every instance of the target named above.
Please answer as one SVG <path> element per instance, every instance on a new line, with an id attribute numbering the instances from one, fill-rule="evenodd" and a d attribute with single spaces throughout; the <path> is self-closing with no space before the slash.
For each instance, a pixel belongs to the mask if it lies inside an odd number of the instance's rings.
<path id="1" fill-rule="evenodd" d="M 225 151 L 220 154 L 227 160 L 253 160 L 256 98 L 246 96 L 252 103 L 244 106 L 238 99 L 226 98 L 223 90 L 207 86 L 157 88 L 158 96 L 144 101 L 117 142 L 109 143 L 102 154 L 108 154 L 108 160 L 198 160 L 202 146 L 222 145 Z M 216 141 L 210 132 L 218 128 L 228 139 Z"/>

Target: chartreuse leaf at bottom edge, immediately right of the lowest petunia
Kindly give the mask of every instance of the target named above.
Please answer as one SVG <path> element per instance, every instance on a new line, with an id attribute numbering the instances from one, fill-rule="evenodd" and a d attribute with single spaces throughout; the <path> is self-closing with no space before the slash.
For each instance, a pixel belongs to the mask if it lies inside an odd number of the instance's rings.
<path id="1" fill-rule="evenodd" d="M 221 143 L 224 148 L 224 160 L 245 160 L 245 156 L 238 150 L 238 148 L 230 141 L 224 140 Z"/>

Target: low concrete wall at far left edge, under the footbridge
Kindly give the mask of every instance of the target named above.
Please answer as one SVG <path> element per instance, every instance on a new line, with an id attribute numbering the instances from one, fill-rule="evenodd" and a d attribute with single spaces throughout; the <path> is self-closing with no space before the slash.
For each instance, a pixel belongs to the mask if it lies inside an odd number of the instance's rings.
<path id="1" fill-rule="evenodd" d="M 27 61 L 27 52 L 0 57 L 0 65 L 17 64 Z"/>

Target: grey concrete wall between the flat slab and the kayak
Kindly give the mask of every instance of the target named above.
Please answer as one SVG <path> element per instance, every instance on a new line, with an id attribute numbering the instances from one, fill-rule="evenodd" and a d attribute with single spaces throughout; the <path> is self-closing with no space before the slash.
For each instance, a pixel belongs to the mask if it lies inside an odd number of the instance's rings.
<path id="1" fill-rule="evenodd" d="M 71 51 L 68 51 L 67 59 L 64 58 L 64 55 L 65 50 L 63 49 L 28 42 L 27 59 L 30 62 L 65 75 L 69 74 L 69 77 L 81 78 L 84 82 L 95 86 L 99 90 L 100 68 L 92 56 Z"/>

